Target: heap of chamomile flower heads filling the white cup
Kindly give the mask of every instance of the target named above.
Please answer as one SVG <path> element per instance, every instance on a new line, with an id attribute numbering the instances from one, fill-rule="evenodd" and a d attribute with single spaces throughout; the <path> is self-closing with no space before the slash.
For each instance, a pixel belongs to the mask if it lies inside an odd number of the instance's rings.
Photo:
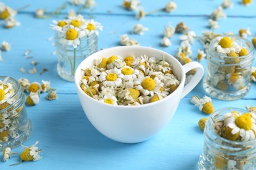
<path id="1" fill-rule="evenodd" d="M 148 56 L 95 59 L 82 70 L 81 89 L 111 105 L 142 105 L 174 92 L 180 82 L 167 61 Z"/>

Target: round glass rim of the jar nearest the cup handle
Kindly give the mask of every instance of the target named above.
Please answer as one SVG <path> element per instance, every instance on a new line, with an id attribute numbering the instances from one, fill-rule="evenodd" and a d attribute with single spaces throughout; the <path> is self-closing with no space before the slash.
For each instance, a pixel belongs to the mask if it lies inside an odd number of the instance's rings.
<path id="1" fill-rule="evenodd" d="M 219 36 L 218 36 L 218 37 L 219 37 Z M 216 52 L 216 50 L 215 50 L 213 44 L 215 44 L 215 41 L 217 41 L 218 37 L 215 37 L 215 38 L 210 42 L 208 49 L 211 50 L 211 52 L 213 52 L 213 54 L 216 54 L 216 55 L 218 55 L 218 56 L 221 56 L 221 57 L 223 57 L 224 59 L 225 59 L 225 58 L 233 58 L 232 56 L 224 56 L 223 54 L 221 54 L 221 53 L 219 53 L 219 52 Z M 251 54 L 253 54 L 253 52 L 254 52 L 254 46 L 253 46 L 253 44 L 252 44 L 249 40 L 245 39 L 244 37 L 240 37 L 240 36 L 238 36 L 238 35 L 225 35 L 224 37 L 231 37 L 231 38 L 235 38 L 235 39 L 240 39 L 240 40 L 244 41 L 246 44 L 248 44 L 247 47 L 248 47 L 249 52 L 248 52 L 245 56 L 239 56 L 240 59 L 247 58 L 248 56 L 253 56 L 253 55 L 251 55 Z"/>

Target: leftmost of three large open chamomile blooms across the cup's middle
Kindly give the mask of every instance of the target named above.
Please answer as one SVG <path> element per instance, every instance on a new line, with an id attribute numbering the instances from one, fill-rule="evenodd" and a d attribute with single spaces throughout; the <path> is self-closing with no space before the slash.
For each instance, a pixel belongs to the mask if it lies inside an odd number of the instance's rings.
<path id="1" fill-rule="evenodd" d="M 99 76 L 100 82 L 103 86 L 113 86 L 118 87 L 122 86 L 123 74 L 120 69 L 114 67 L 114 69 L 109 69 L 104 71 Z"/>

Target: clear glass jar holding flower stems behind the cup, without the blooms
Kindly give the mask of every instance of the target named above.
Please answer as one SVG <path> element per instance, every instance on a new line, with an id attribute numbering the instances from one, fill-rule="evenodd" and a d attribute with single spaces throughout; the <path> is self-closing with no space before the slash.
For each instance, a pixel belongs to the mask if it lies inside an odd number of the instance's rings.
<path id="1" fill-rule="evenodd" d="M 60 43 L 60 33 L 55 34 L 55 46 L 58 54 L 57 72 L 64 80 L 74 82 L 75 69 L 91 54 L 98 51 L 98 36 L 93 33 L 80 40 L 77 48 Z"/>

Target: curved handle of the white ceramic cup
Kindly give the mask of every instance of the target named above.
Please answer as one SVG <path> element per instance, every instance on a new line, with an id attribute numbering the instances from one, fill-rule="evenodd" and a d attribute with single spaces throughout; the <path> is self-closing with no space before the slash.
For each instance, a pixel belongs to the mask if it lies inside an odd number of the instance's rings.
<path id="1" fill-rule="evenodd" d="M 203 66 L 196 62 L 190 62 L 190 63 L 186 63 L 185 65 L 182 66 L 185 73 L 188 73 L 188 71 L 192 70 L 192 69 L 197 69 L 196 74 L 194 75 L 194 77 L 190 80 L 190 82 L 188 82 L 188 84 L 186 84 L 186 86 L 184 86 L 182 95 L 181 95 L 181 99 L 183 97 L 185 97 L 189 92 L 191 92 L 191 90 L 193 90 L 196 85 L 200 82 L 202 76 L 203 76 Z"/>

